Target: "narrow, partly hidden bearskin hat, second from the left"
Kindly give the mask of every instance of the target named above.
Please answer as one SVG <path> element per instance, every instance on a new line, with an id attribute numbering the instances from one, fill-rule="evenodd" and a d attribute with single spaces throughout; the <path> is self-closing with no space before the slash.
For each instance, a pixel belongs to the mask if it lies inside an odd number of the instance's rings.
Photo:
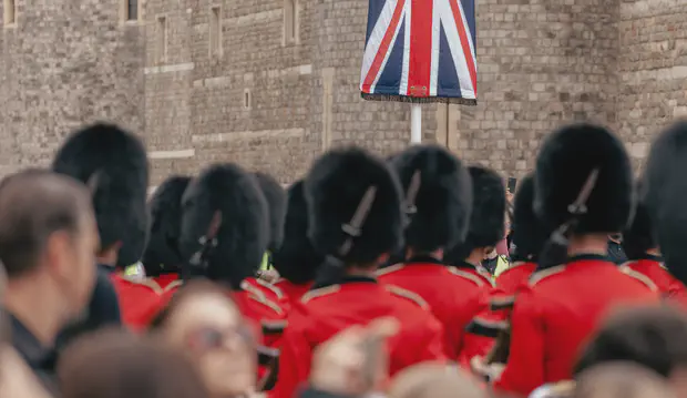
<path id="1" fill-rule="evenodd" d="M 182 225 L 182 196 L 191 177 L 173 175 L 165 180 L 148 201 L 151 236 L 143 253 L 147 276 L 180 272 L 183 259 L 178 252 Z"/>

